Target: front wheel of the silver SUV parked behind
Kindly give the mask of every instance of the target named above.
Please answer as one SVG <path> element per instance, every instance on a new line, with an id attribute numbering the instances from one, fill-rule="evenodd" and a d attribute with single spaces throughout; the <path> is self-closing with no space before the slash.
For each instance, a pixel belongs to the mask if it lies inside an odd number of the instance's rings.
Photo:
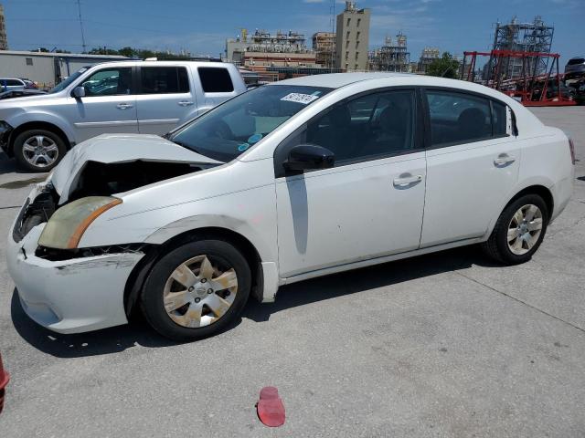
<path id="1" fill-rule="evenodd" d="M 50 130 L 25 130 L 15 139 L 16 162 L 31 172 L 48 172 L 61 161 L 67 147 L 58 134 Z"/>

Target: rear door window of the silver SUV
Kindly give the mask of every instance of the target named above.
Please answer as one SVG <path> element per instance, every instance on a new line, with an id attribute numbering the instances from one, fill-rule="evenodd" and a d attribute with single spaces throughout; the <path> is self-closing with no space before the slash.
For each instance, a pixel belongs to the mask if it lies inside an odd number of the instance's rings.
<path id="1" fill-rule="evenodd" d="M 142 67 L 140 85 L 141 94 L 189 92 L 189 78 L 185 67 Z"/>

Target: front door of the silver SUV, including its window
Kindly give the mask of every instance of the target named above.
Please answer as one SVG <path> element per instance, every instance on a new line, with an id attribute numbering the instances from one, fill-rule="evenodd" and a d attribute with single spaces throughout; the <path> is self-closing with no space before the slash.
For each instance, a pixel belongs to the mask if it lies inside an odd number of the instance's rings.
<path id="1" fill-rule="evenodd" d="M 103 133 L 138 132 L 132 67 L 100 68 L 77 86 L 85 96 L 69 96 L 61 111 L 73 123 L 78 142 Z"/>

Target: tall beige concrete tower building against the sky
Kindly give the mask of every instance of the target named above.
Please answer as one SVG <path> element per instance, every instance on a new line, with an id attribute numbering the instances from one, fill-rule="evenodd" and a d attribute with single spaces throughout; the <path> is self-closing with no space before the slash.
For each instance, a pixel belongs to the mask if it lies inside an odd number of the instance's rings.
<path id="1" fill-rule="evenodd" d="M 356 2 L 346 2 L 346 9 L 337 16 L 336 68 L 346 71 L 367 69 L 369 19 L 369 9 L 357 9 Z"/>

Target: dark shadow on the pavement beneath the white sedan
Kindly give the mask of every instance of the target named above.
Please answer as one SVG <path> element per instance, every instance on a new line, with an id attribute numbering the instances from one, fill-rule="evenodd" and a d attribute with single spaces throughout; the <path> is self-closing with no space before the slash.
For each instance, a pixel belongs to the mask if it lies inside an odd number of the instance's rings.
<path id="1" fill-rule="evenodd" d="M 377 287 L 388 287 L 415 278 L 433 276 L 472 265 L 498 266 L 487 260 L 476 247 L 464 247 L 305 280 L 282 287 L 274 303 L 261 304 L 250 299 L 241 317 L 221 332 L 237 327 L 242 318 L 261 323 L 269 320 L 272 314 L 287 308 L 335 299 Z M 160 348 L 181 344 L 181 342 L 158 335 L 140 316 L 134 317 L 131 323 L 125 326 L 74 335 L 54 333 L 27 317 L 20 304 L 16 288 L 12 296 L 11 317 L 16 332 L 32 347 L 58 358 L 112 354 L 137 345 Z"/>

